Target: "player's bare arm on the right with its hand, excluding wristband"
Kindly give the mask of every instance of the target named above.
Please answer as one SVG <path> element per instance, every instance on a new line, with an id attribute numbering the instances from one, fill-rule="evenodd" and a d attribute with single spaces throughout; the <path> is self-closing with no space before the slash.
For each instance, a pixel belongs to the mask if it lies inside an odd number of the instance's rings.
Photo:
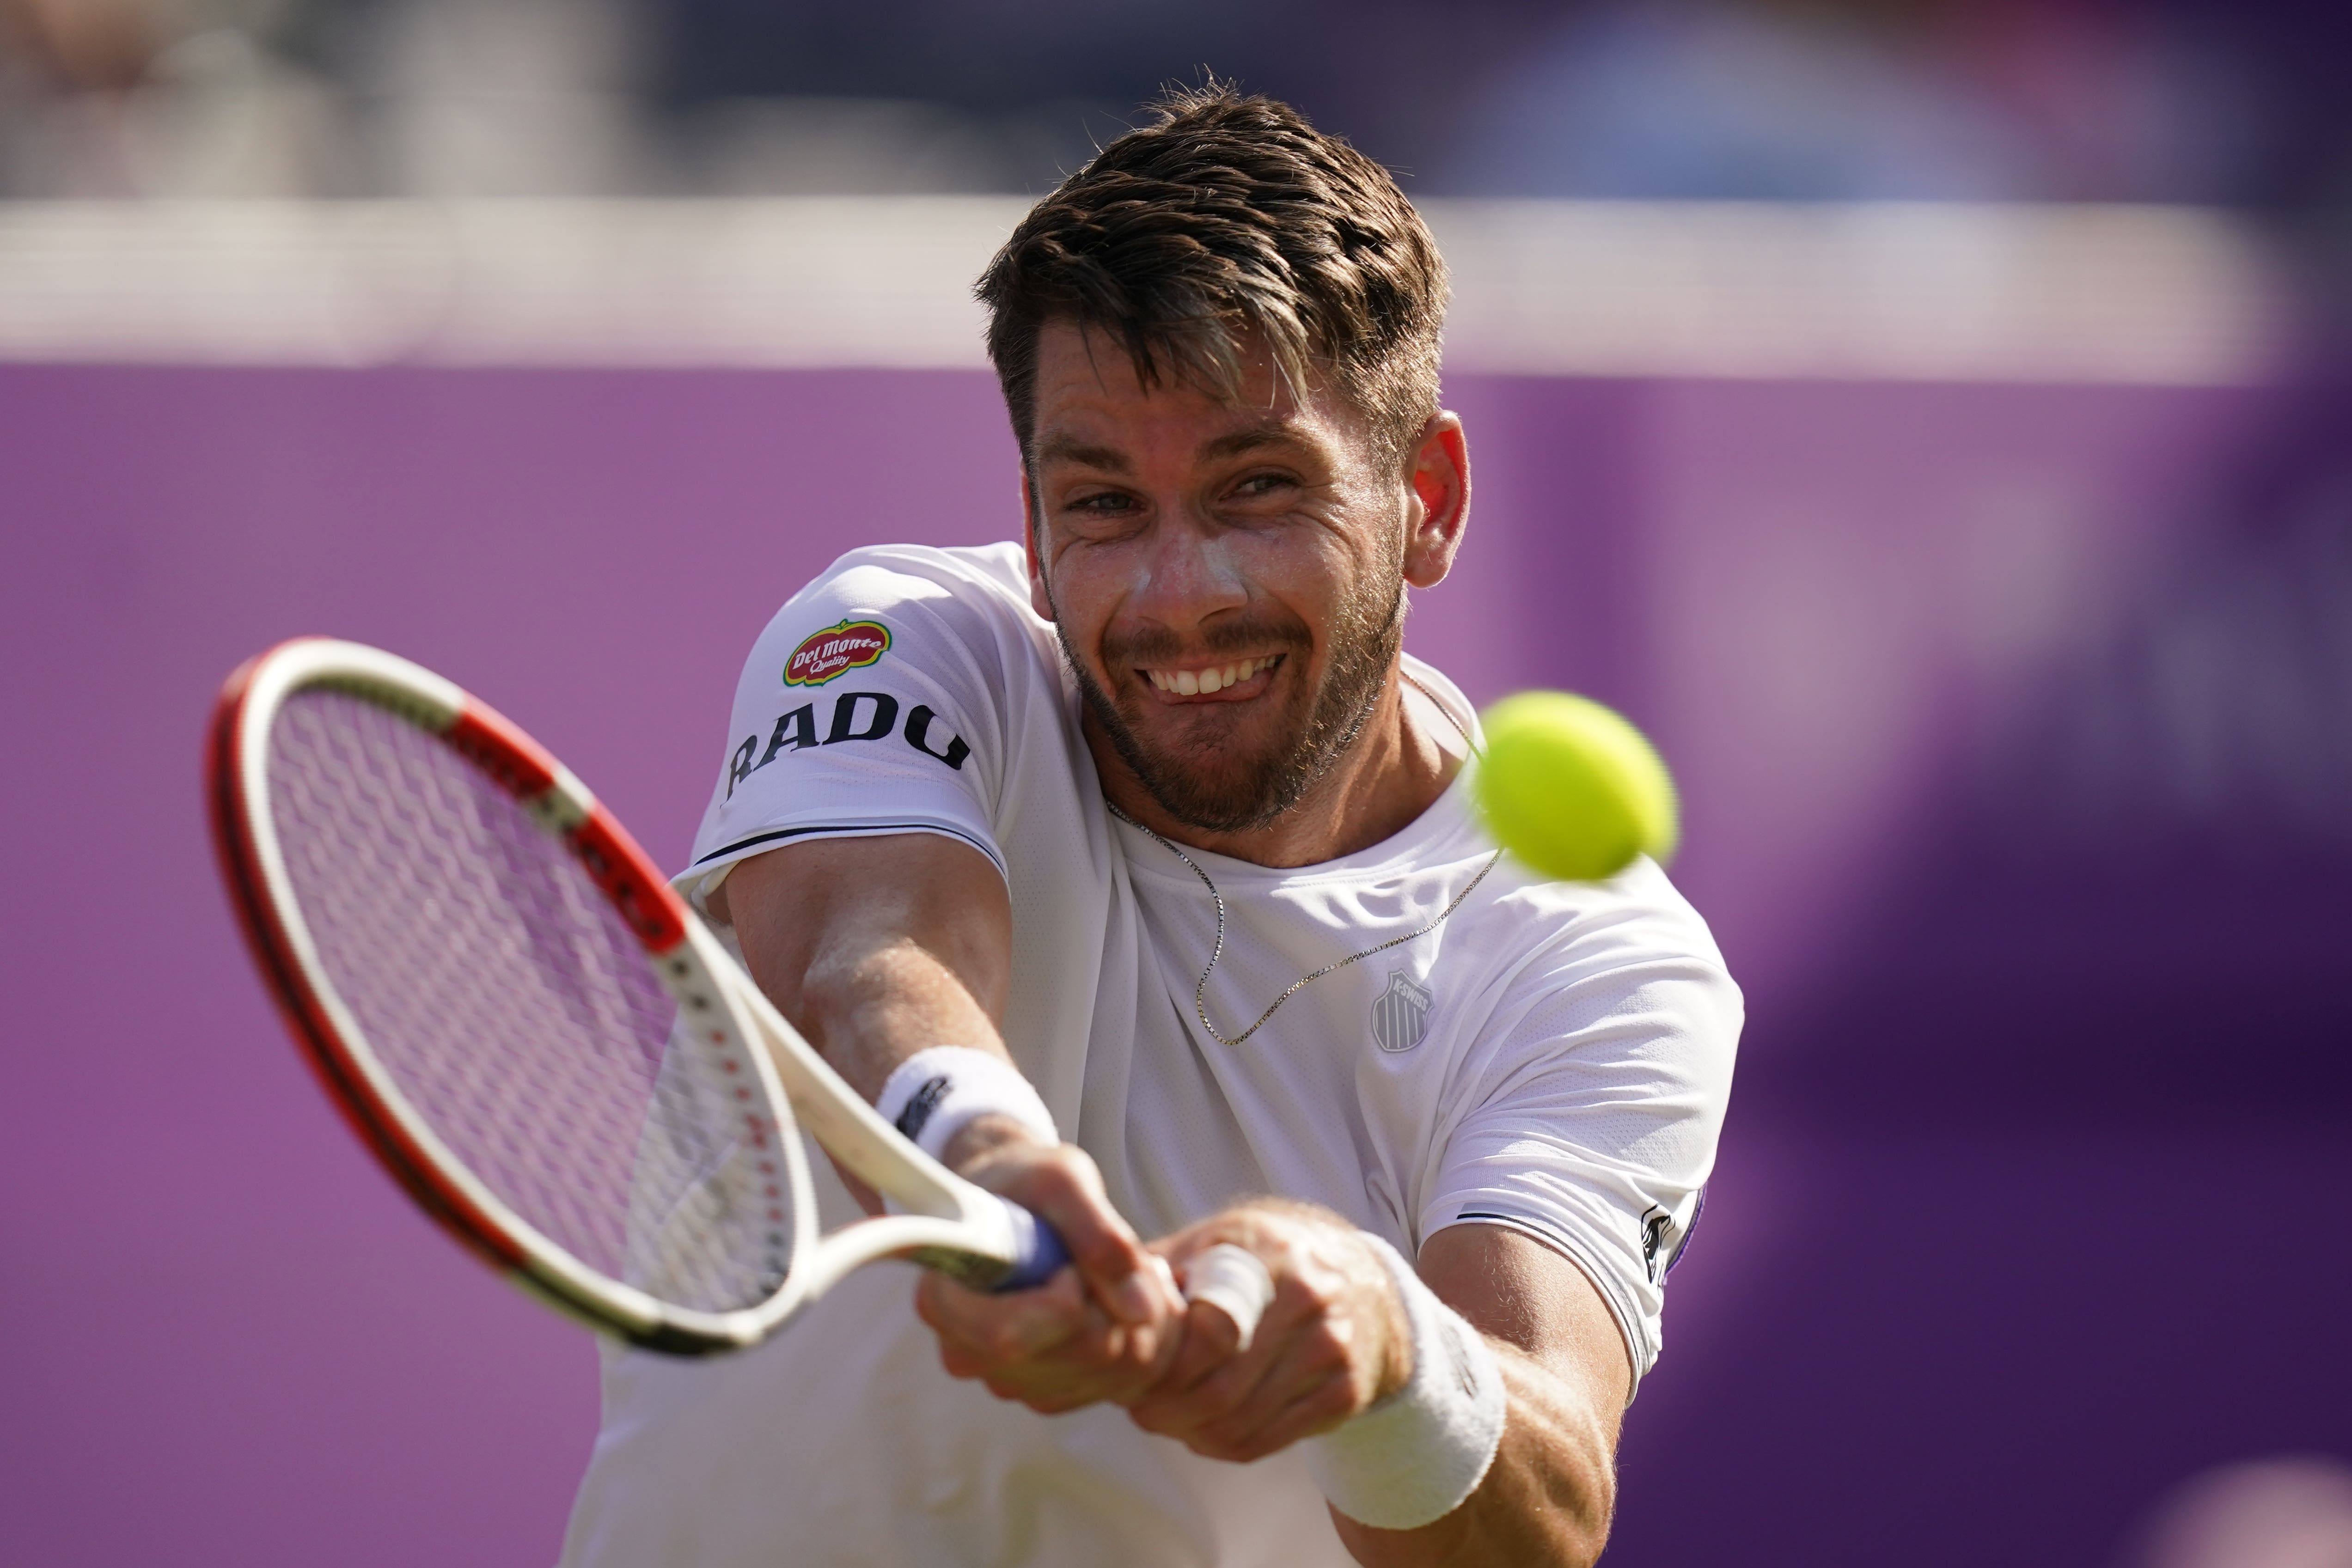
<path id="1" fill-rule="evenodd" d="M 1411 1378 L 1411 1333 L 1385 1265 L 1338 1215 L 1244 1204 L 1178 1237 L 1178 1262 L 1237 1241 L 1275 1272 L 1275 1305 L 1249 1352 L 1195 1333 L 1134 1406 L 1150 1432 L 1195 1453 L 1256 1460 L 1329 1432 Z M 1423 1281 L 1477 1328 L 1503 1371 L 1503 1443 L 1479 1486 L 1444 1519 L 1376 1530 L 1334 1509 L 1367 1568 L 1418 1563 L 1590 1563 L 1616 1500 L 1618 1413 L 1632 1382 L 1623 1335 L 1585 1274 L 1498 1225 L 1454 1225 L 1421 1251 Z M 1195 1319 L 1202 1319 L 1195 1312 Z"/>

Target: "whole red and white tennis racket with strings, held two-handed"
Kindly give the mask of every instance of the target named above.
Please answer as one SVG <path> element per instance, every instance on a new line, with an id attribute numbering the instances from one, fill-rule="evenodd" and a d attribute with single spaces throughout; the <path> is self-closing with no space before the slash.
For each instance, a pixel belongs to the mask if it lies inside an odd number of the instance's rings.
<path id="1" fill-rule="evenodd" d="M 699 1356 L 877 1258 L 997 1291 L 1065 1262 L 1037 1215 L 875 1114 L 569 769 L 430 670 L 325 637 L 247 661 L 209 797 L 254 959 L 336 1107 L 557 1312 Z M 802 1126 L 896 1213 L 818 1234 Z M 1195 1300 L 1247 1342 L 1272 1286 L 1223 1251 Z"/>

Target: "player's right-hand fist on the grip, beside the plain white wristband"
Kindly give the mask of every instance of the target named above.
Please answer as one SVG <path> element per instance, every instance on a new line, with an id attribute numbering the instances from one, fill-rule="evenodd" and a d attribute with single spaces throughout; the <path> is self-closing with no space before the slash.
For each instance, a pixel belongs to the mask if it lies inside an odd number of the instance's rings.
<path id="1" fill-rule="evenodd" d="M 1211 1460 L 1261 1460 L 1411 1380 L 1414 1333 L 1397 1286 L 1348 1220 L 1308 1204 L 1254 1201 L 1152 1251 L 1181 1272 L 1218 1241 L 1265 1262 L 1275 1300 L 1240 1354 L 1232 1319 L 1192 1305 L 1167 1373 L 1129 1406 L 1138 1427 Z"/>

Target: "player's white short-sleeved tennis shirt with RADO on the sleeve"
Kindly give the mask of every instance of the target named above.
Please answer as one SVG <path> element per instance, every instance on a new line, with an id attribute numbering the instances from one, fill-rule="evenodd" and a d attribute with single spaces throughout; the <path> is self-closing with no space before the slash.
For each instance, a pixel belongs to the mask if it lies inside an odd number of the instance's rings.
<path id="1" fill-rule="evenodd" d="M 1406 672 L 1461 748 L 1477 724 L 1461 691 Z M 1221 1046 L 1192 1013 L 1209 891 L 1105 811 L 1018 545 L 844 555 L 760 635 L 731 724 L 677 886 L 701 900 L 736 860 L 811 837 L 943 832 L 995 860 L 1014 910 L 1004 1041 L 1143 1237 L 1254 1194 L 1324 1204 L 1404 1255 L 1449 1225 L 1510 1225 L 1592 1279 L 1649 1371 L 1740 1025 L 1705 924 L 1656 865 L 1571 886 L 1505 860 L 1428 936 Z M 1225 898 L 1204 1006 L 1230 1039 L 1301 976 L 1428 926 L 1494 844 L 1456 780 L 1324 865 L 1188 853 Z M 828 1227 L 847 1222 L 814 1164 Z M 1035 1415 L 948 1378 L 910 1302 L 913 1269 L 875 1265 L 741 1356 L 609 1349 L 564 1563 L 1350 1561 L 1296 1450 L 1221 1465 L 1110 1406 Z"/>

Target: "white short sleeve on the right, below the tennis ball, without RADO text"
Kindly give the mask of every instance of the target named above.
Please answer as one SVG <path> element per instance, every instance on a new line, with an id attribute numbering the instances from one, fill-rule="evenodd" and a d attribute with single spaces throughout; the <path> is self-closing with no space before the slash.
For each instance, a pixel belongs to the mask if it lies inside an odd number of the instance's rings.
<path id="1" fill-rule="evenodd" d="M 1421 1204 L 1423 1237 L 1505 1225 L 1576 1262 L 1618 1319 L 1637 1382 L 1715 1168 L 1740 1032 L 1705 926 L 1668 898 L 1512 978 L 1449 1093 L 1463 1110 Z"/>

